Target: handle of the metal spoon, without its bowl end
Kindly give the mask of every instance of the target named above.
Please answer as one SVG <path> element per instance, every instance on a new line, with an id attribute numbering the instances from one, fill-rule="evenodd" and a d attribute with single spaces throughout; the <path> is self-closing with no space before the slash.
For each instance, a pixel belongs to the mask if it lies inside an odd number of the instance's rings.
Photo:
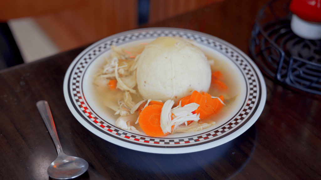
<path id="1" fill-rule="evenodd" d="M 36 105 L 37 105 L 37 108 L 38 108 L 38 110 L 40 112 L 40 115 L 41 115 L 43 121 L 46 124 L 46 127 L 47 127 L 47 129 L 49 131 L 49 134 L 50 134 L 52 140 L 54 141 L 54 143 L 56 145 L 56 149 L 57 149 L 58 155 L 60 153 L 63 153 L 61 144 L 59 142 L 58 134 L 57 134 L 57 131 L 56 131 L 56 126 L 55 126 L 55 123 L 54 123 L 54 119 L 52 118 L 52 114 L 51 114 L 48 102 L 45 101 L 45 100 L 41 100 L 41 101 L 38 101 L 36 103 Z"/>

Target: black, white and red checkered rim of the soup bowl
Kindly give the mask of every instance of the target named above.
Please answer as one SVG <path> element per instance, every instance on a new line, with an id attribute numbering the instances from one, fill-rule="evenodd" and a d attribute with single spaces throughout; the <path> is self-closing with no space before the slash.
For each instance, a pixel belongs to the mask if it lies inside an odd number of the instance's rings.
<path id="1" fill-rule="evenodd" d="M 239 69 L 243 72 L 244 78 L 247 82 L 247 97 L 242 109 L 239 110 L 236 116 L 221 127 L 217 127 L 214 130 L 200 135 L 181 138 L 153 138 L 119 129 L 105 122 L 90 109 L 90 106 L 87 104 L 85 97 L 83 96 L 81 83 L 86 68 L 91 64 L 91 62 L 101 53 L 108 51 L 111 45 L 121 45 L 134 40 L 156 38 L 160 36 L 178 36 L 194 40 L 202 45 L 206 45 L 221 52 L 237 64 Z M 72 102 L 75 103 L 78 113 L 90 122 L 91 125 L 94 125 L 94 127 L 98 128 L 101 132 L 114 138 L 130 143 L 155 147 L 168 148 L 194 146 L 195 143 L 208 143 L 218 138 L 222 138 L 237 130 L 241 124 L 247 122 L 247 120 L 252 117 L 255 109 L 257 108 L 256 104 L 258 99 L 260 98 L 259 88 L 257 87 L 260 86 L 260 82 L 257 78 L 256 72 L 253 70 L 251 64 L 246 60 L 246 58 L 239 54 L 237 50 L 232 49 L 219 40 L 203 37 L 191 32 L 176 30 L 142 31 L 113 39 L 106 38 L 106 41 L 91 48 L 82 57 L 77 59 L 77 63 L 73 67 L 69 80 L 69 95 L 73 99 Z"/>

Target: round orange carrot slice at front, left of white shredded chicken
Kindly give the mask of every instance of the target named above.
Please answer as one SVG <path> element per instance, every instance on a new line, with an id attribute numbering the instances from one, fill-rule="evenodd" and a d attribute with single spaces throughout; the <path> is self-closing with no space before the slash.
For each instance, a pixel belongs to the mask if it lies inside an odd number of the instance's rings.
<path id="1" fill-rule="evenodd" d="M 153 104 L 146 106 L 139 114 L 138 123 L 144 133 L 153 137 L 164 136 L 160 127 L 160 113 L 162 105 Z"/>

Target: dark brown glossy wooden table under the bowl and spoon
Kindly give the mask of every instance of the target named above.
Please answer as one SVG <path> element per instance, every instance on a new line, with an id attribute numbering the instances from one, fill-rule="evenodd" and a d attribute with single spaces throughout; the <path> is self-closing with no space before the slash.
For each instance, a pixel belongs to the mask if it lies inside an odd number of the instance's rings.
<path id="1" fill-rule="evenodd" d="M 267 0 L 225 0 L 144 27 L 193 29 L 219 37 L 249 54 L 258 10 Z M 83 127 L 63 95 L 65 72 L 80 47 L 0 71 L 0 179 L 50 179 L 53 141 L 36 108 L 47 100 L 66 154 L 89 162 L 76 179 L 320 179 L 321 103 L 265 78 L 262 115 L 244 134 L 205 151 L 169 155 L 129 150 Z"/>

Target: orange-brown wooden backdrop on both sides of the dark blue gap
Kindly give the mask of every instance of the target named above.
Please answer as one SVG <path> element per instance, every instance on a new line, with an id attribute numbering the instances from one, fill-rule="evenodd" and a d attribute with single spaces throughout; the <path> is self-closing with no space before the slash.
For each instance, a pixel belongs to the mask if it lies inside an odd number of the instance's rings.
<path id="1" fill-rule="evenodd" d="M 221 0 L 150 0 L 149 23 Z M 61 51 L 138 27 L 138 0 L 0 0 L 0 21 L 31 16 Z"/>

